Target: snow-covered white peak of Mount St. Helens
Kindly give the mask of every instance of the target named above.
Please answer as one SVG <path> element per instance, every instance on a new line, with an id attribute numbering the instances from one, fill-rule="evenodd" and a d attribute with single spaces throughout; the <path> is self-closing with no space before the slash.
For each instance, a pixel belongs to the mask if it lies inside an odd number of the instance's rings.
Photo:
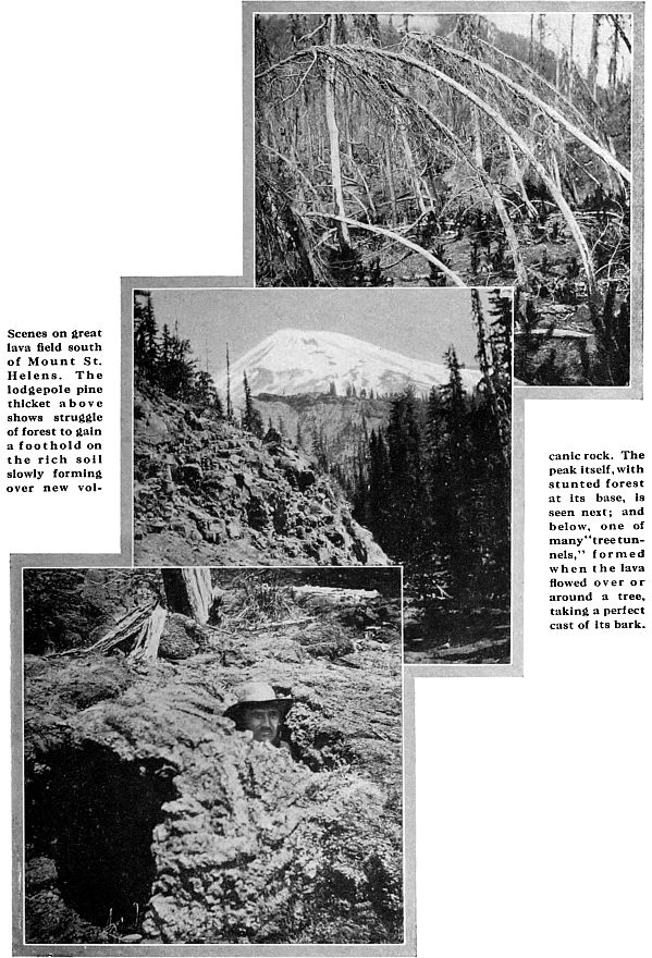
<path id="1" fill-rule="evenodd" d="M 298 395 L 328 393 L 334 383 L 339 396 L 353 386 L 376 395 L 401 392 L 413 384 L 417 394 L 448 381 L 445 366 L 427 359 L 411 359 L 364 340 L 322 331 L 283 329 L 262 340 L 231 366 L 231 395 L 235 404 L 243 398 L 243 372 L 253 395 Z M 478 370 L 462 370 L 465 386 L 472 391 L 480 379 Z M 217 380 L 224 394 L 226 373 Z"/>

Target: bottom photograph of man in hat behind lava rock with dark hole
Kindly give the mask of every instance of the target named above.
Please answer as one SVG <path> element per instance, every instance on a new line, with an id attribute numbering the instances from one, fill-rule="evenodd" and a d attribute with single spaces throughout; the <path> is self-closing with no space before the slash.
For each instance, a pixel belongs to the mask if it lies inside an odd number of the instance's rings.
<path id="1" fill-rule="evenodd" d="M 401 594 L 396 567 L 23 569 L 23 943 L 406 954 Z"/>

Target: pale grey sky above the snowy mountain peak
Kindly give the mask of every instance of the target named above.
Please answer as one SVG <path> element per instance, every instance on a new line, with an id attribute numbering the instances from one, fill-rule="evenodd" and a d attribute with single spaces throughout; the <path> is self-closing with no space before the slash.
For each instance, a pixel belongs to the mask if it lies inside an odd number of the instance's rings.
<path id="1" fill-rule="evenodd" d="M 481 291 L 481 302 L 489 291 Z M 224 368 L 280 329 L 324 330 L 357 336 L 404 356 L 441 363 L 454 345 L 460 363 L 476 368 L 470 293 L 430 290 L 157 290 L 159 329 L 179 326 L 201 368 Z"/>

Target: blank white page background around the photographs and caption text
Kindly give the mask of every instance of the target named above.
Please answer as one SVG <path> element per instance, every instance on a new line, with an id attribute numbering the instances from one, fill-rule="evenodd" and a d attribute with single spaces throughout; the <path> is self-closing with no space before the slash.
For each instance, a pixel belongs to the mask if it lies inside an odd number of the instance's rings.
<path id="1" fill-rule="evenodd" d="M 239 3 L 39 0 L 3 20 L 3 332 L 101 328 L 109 405 L 120 277 L 242 270 Z M 417 683 L 421 958 L 651 951 L 650 632 L 549 630 L 544 481 L 553 449 L 649 452 L 650 419 L 640 402 L 527 404 L 526 677 Z M 116 415 L 106 443 L 101 501 L 3 493 L 7 636 L 10 552 L 118 551 Z"/>

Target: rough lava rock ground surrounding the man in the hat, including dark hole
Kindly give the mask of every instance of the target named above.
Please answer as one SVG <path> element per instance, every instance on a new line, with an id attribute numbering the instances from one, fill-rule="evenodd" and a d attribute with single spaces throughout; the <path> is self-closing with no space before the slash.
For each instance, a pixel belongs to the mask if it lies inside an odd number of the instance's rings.
<path id="1" fill-rule="evenodd" d="M 148 667 L 26 656 L 27 941 L 402 941 L 397 603 L 195 651 L 183 619 Z M 290 751 L 223 716 L 249 679 L 293 695 Z"/>

